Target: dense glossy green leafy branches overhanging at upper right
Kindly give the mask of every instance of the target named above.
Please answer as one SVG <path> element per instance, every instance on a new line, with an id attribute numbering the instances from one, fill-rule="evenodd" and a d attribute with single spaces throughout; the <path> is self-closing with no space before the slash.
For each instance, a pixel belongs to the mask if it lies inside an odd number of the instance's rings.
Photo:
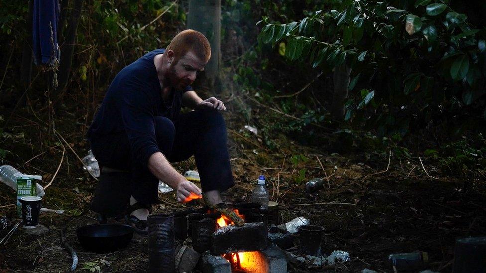
<path id="1" fill-rule="evenodd" d="M 315 69 L 351 67 L 345 120 L 381 137 L 398 141 L 425 127 L 459 133 L 482 122 L 485 30 L 439 1 L 391 4 L 344 1 L 285 24 L 264 18 L 260 39 Z"/>

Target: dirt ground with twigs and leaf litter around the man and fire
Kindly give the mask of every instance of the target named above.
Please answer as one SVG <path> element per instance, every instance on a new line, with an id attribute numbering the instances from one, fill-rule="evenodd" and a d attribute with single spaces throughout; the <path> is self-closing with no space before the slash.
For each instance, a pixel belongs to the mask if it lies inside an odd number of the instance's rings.
<path id="1" fill-rule="evenodd" d="M 21 116 L 14 118 L 33 128 L 38 125 Z M 296 216 L 309 218 L 312 224 L 325 228 L 323 254 L 343 250 L 351 256 L 349 262 L 317 268 L 289 263 L 290 272 L 359 272 L 365 268 L 392 272 L 387 263 L 389 254 L 415 250 L 429 253 L 428 269 L 449 272 L 455 239 L 486 234 L 483 173 L 477 173 L 472 180 L 449 177 L 440 172 L 432 159 L 421 158 L 422 167 L 419 158 L 390 156 L 386 151 L 335 153 L 322 146 L 303 146 L 281 135 L 275 137 L 280 146 L 271 151 L 258 136 L 243 129 L 237 118 L 230 116 L 227 123 L 236 186 L 224 194 L 226 201 L 248 201 L 258 175 L 264 174 L 270 199 L 280 203 L 285 221 Z M 76 132 L 76 127 L 63 129 Z M 29 144 L 26 140 L 36 139 L 29 135 L 21 141 L 13 137 L 8 140 L 8 145 L 18 145 L 17 155 L 28 155 L 22 159 L 26 163 L 20 165 L 21 171 L 42 174 L 44 186 L 54 178 L 46 189 L 43 206 L 64 209 L 65 213 L 40 216 L 40 223 L 50 230 L 46 235 L 27 235 L 19 228 L 8 243 L 0 246 L 1 272 L 68 271 L 71 259 L 59 239 L 63 228 L 78 253 L 78 272 L 90 268 L 98 271 L 97 266 L 103 272 L 146 271 L 148 251 L 144 237 L 135 235 L 128 248 L 106 254 L 84 251 L 77 242 L 76 228 L 97 222 L 88 208 L 96 181 L 82 169 L 73 152 L 85 155 L 82 134 L 66 134 L 63 138 L 66 142 L 59 139 L 50 148 L 42 142 Z M 60 163 L 62 168 L 54 175 Z M 180 172 L 195 168 L 193 159 L 175 166 Z M 299 182 L 302 169 L 306 173 Z M 305 192 L 305 181 L 326 176 L 329 183 L 323 190 L 314 195 Z M 10 188 L 0 185 L 0 215 L 14 217 L 14 198 Z M 161 194 L 160 200 L 156 212 L 184 207 L 175 201 L 173 193 Z"/>

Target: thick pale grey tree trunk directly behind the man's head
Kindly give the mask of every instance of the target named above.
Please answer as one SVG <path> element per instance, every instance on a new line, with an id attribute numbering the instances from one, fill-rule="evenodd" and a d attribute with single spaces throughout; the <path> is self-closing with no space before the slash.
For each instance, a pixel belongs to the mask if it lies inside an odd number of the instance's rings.
<path id="1" fill-rule="evenodd" d="M 207 84 L 216 94 L 221 93 L 221 0 L 189 0 L 187 28 L 203 33 L 211 45 L 211 59 L 198 82 Z"/>

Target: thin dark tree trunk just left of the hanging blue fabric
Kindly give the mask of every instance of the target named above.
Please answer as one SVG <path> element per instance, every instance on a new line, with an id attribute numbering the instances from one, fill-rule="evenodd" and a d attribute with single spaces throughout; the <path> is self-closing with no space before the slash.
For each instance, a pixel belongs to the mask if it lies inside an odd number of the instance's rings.
<path id="1" fill-rule="evenodd" d="M 32 61 L 33 61 L 33 50 L 32 50 L 32 13 L 34 9 L 34 0 L 29 1 L 29 17 L 27 18 L 27 39 L 23 43 L 22 48 L 22 66 L 20 68 L 20 83 L 22 84 L 23 90 L 21 91 L 23 95 L 27 88 L 29 88 L 30 81 L 32 80 Z M 25 105 L 26 95 L 23 95 L 20 99 L 19 105 Z"/>

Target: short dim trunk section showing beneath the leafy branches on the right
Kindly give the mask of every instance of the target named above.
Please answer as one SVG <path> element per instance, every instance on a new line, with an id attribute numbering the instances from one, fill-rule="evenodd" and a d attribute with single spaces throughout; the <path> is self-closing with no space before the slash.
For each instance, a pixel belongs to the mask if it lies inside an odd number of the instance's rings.
<path id="1" fill-rule="evenodd" d="M 342 120 L 345 113 L 344 103 L 348 98 L 351 68 L 343 64 L 334 68 L 334 93 L 331 103 L 331 115 L 336 120 Z"/>

